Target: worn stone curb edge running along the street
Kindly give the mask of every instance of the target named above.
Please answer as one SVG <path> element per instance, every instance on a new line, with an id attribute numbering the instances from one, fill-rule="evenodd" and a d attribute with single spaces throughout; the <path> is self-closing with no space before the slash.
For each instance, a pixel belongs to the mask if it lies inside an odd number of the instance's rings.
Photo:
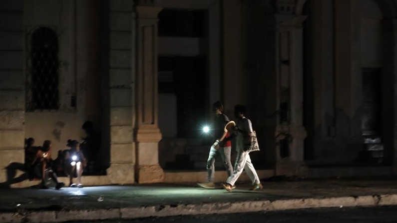
<path id="1" fill-rule="evenodd" d="M 242 212 L 281 211 L 308 208 L 365 207 L 397 205 L 397 194 L 360 197 L 263 200 L 197 205 L 161 205 L 137 208 L 81 211 L 43 211 L 0 213 L 0 223 L 51 223 L 67 221 L 131 220 L 146 217 L 179 215 L 231 214 Z"/>

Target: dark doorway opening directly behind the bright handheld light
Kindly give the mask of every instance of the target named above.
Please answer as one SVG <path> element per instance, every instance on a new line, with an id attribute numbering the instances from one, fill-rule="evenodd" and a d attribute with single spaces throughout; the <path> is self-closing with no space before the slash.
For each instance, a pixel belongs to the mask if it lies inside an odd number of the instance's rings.
<path id="1" fill-rule="evenodd" d="M 177 137 L 195 138 L 206 117 L 204 57 L 160 56 L 158 61 L 159 93 L 176 94 Z"/>

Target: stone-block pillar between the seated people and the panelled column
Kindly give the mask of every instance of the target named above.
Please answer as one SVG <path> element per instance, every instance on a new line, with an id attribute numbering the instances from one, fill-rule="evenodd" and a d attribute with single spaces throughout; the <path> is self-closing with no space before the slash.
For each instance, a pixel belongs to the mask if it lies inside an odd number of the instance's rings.
<path id="1" fill-rule="evenodd" d="M 109 79 L 104 98 L 110 105 L 109 122 L 110 183 L 135 182 L 134 106 L 134 12 L 131 0 L 110 0 L 109 6 Z M 105 123 L 106 123 L 105 122 Z"/>

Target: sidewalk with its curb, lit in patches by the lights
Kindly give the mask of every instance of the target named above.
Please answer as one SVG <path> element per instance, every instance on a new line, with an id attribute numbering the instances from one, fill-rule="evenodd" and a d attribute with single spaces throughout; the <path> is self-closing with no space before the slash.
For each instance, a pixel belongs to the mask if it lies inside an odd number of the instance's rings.
<path id="1" fill-rule="evenodd" d="M 0 189 L 0 223 L 135 219 L 302 208 L 397 205 L 397 180 L 263 182 L 228 193 L 193 184 L 48 189 Z"/>

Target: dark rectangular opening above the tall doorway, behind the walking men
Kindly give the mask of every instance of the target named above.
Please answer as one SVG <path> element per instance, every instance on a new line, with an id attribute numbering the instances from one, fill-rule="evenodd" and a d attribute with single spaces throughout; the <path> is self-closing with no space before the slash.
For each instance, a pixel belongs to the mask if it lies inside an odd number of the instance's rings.
<path id="1" fill-rule="evenodd" d="M 164 9 L 160 11 L 160 36 L 203 37 L 204 10 Z"/>

